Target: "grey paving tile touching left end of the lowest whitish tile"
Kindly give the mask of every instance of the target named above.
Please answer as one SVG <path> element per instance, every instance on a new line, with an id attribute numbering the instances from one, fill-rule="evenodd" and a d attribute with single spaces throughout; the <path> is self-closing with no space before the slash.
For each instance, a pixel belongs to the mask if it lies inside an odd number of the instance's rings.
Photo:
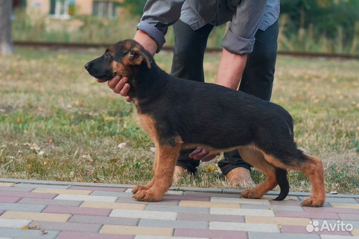
<path id="1" fill-rule="evenodd" d="M 141 219 L 139 226 L 142 227 L 161 227 L 161 228 L 190 228 L 190 229 L 208 229 L 208 222 L 201 221 L 173 221 L 173 220 L 156 220 Z"/>

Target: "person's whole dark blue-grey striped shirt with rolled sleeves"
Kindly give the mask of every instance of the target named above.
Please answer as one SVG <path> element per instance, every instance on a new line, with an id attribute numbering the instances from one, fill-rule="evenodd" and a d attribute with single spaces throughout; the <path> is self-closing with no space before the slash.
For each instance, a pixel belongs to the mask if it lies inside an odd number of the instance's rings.
<path id="1" fill-rule="evenodd" d="M 246 54 L 253 50 L 257 30 L 267 29 L 278 16 L 279 0 L 147 0 L 137 29 L 157 42 L 159 52 L 166 42 L 168 26 L 178 19 L 193 30 L 230 20 L 221 46 L 234 54 Z"/>

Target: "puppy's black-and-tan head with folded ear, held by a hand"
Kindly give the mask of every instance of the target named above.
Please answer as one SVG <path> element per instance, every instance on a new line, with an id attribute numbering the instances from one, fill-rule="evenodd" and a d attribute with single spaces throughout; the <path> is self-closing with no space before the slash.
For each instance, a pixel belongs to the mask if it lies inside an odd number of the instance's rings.
<path id="1" fill-rule="evenodd" d="M 152 56 L 135 40 L 123 40 L 108 47 L 105 53 L 85 64 L 95 78 L 112 79 L 116 75 L 129 77 L 141 67 L 151 69 Z"/>

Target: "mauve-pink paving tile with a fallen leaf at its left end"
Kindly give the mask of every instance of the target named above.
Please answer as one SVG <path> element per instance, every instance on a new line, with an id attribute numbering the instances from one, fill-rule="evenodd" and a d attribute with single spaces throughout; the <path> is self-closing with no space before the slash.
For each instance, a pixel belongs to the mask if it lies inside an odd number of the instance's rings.
<path id="1" fill-rule="evenodd" d="M 88 232 L 97 233 L 101 224 L 86 224 L 86 223 L 55 223 L 55 222 L 44 222 L 44 221 L 33 221 L 29 227 L 38 225 L 39 230 L 51 230 L 51 231 L 74 231 L 74 232 Z"/>

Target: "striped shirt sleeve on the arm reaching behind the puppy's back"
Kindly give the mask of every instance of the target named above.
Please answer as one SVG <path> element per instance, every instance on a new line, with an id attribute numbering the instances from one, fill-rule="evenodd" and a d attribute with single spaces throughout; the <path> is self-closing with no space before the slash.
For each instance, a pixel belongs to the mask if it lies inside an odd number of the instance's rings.
<path id="1" fill-rule="evenodd" d="M 242 0 L 233 14 L 232 24 L 221 42 L 221 46 L 233 54 L 252 52 L 254 35 L 259 28 L 266 1 Z"/>

